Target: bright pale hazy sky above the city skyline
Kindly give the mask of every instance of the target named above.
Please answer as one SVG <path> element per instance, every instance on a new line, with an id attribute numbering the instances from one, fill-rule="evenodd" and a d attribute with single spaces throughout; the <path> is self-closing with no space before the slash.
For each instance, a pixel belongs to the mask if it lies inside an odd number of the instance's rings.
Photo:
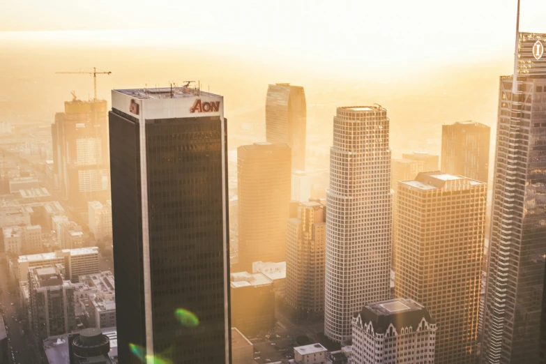
<path id="1" fill-rule="evenodd" d="M 516 0 L 3 0 L 0 43 L 246 47 L 346 64 L 455 63 L 513 52 Z M 546 1 L 522 0 L 521 29 L 546 32 Z M 39 33 L 36 33 L 39 31 Z M 238 50 L 239 52 L 239 50 Z"/>

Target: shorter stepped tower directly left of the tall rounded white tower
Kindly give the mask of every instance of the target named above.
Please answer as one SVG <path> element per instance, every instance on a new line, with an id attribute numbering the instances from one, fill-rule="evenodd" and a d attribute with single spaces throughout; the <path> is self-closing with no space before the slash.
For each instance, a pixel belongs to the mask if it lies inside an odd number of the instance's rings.
<path id="1" fill-rule="evenodd" d="M 286 301 L 298 319 L 324 314 L 326 211 L 319 202 L 302 202 L 288 219 Z"/>

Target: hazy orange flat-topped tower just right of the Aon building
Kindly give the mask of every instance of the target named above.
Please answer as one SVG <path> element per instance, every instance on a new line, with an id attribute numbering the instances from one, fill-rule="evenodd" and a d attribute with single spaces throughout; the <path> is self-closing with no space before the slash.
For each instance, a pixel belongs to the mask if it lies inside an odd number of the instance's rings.
<path id="1" fill-rule="evenodd" d="M 255 143 L 237 149 L 239 270 L 285 261 L 290 204 L 290 148 Z"/>

